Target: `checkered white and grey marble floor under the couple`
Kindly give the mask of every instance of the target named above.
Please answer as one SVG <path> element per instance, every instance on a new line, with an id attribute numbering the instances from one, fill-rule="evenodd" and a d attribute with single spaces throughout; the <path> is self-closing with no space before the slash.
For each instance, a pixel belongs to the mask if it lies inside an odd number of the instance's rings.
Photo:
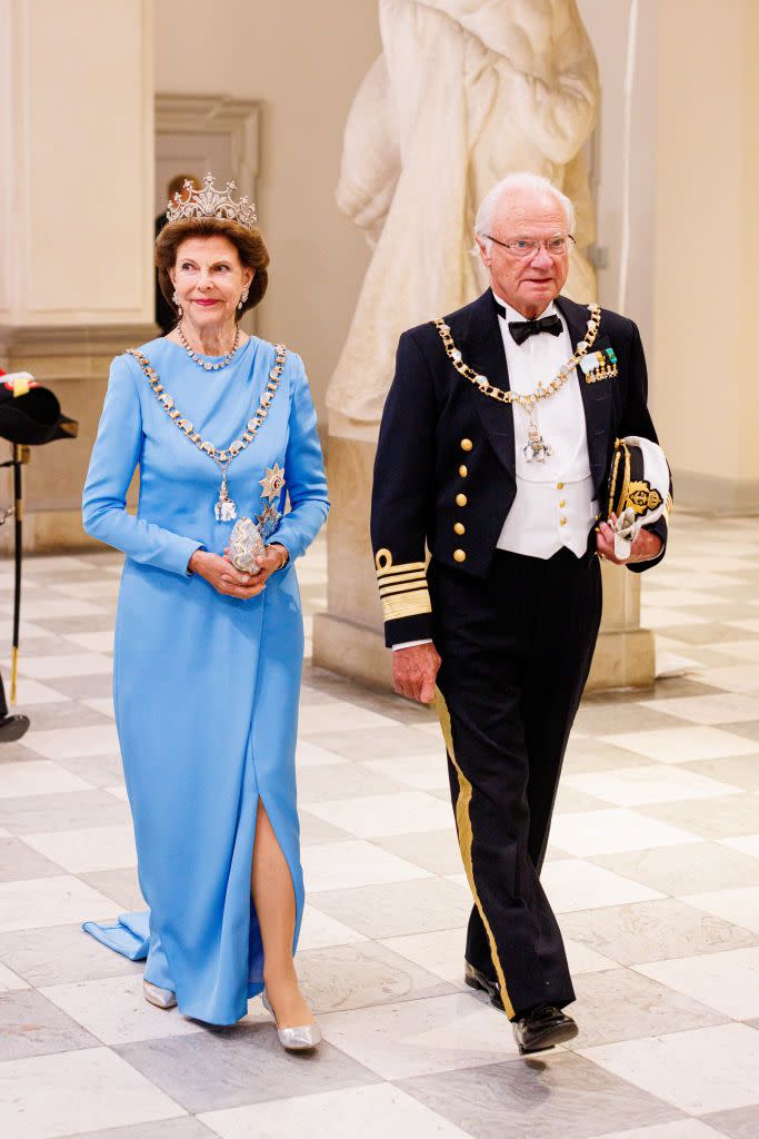
<path id="1" fill-rule="evenodd" d="M 302 566 L 324 604 L 322 542 Z M 30 562 L 23 741 L 0 748 L 0 1134 L 7 1139 L 759 1136 L 759 523 L 676 515 L 646 575 L 655 688 L 591 697 L 545 870 L 580 1035 L 519 1058 L 462 983 L 469 895 L 431 714 L 305 669 L 298 956 L 325 1043 L 259 1001 L 159 1011 L 80 932 L 140 904 L 110 703 L 119 560 Z M 0 565 L 2 644 L 11 570 Z M 7 675 L 7 661 L 3 662 Z"/>

